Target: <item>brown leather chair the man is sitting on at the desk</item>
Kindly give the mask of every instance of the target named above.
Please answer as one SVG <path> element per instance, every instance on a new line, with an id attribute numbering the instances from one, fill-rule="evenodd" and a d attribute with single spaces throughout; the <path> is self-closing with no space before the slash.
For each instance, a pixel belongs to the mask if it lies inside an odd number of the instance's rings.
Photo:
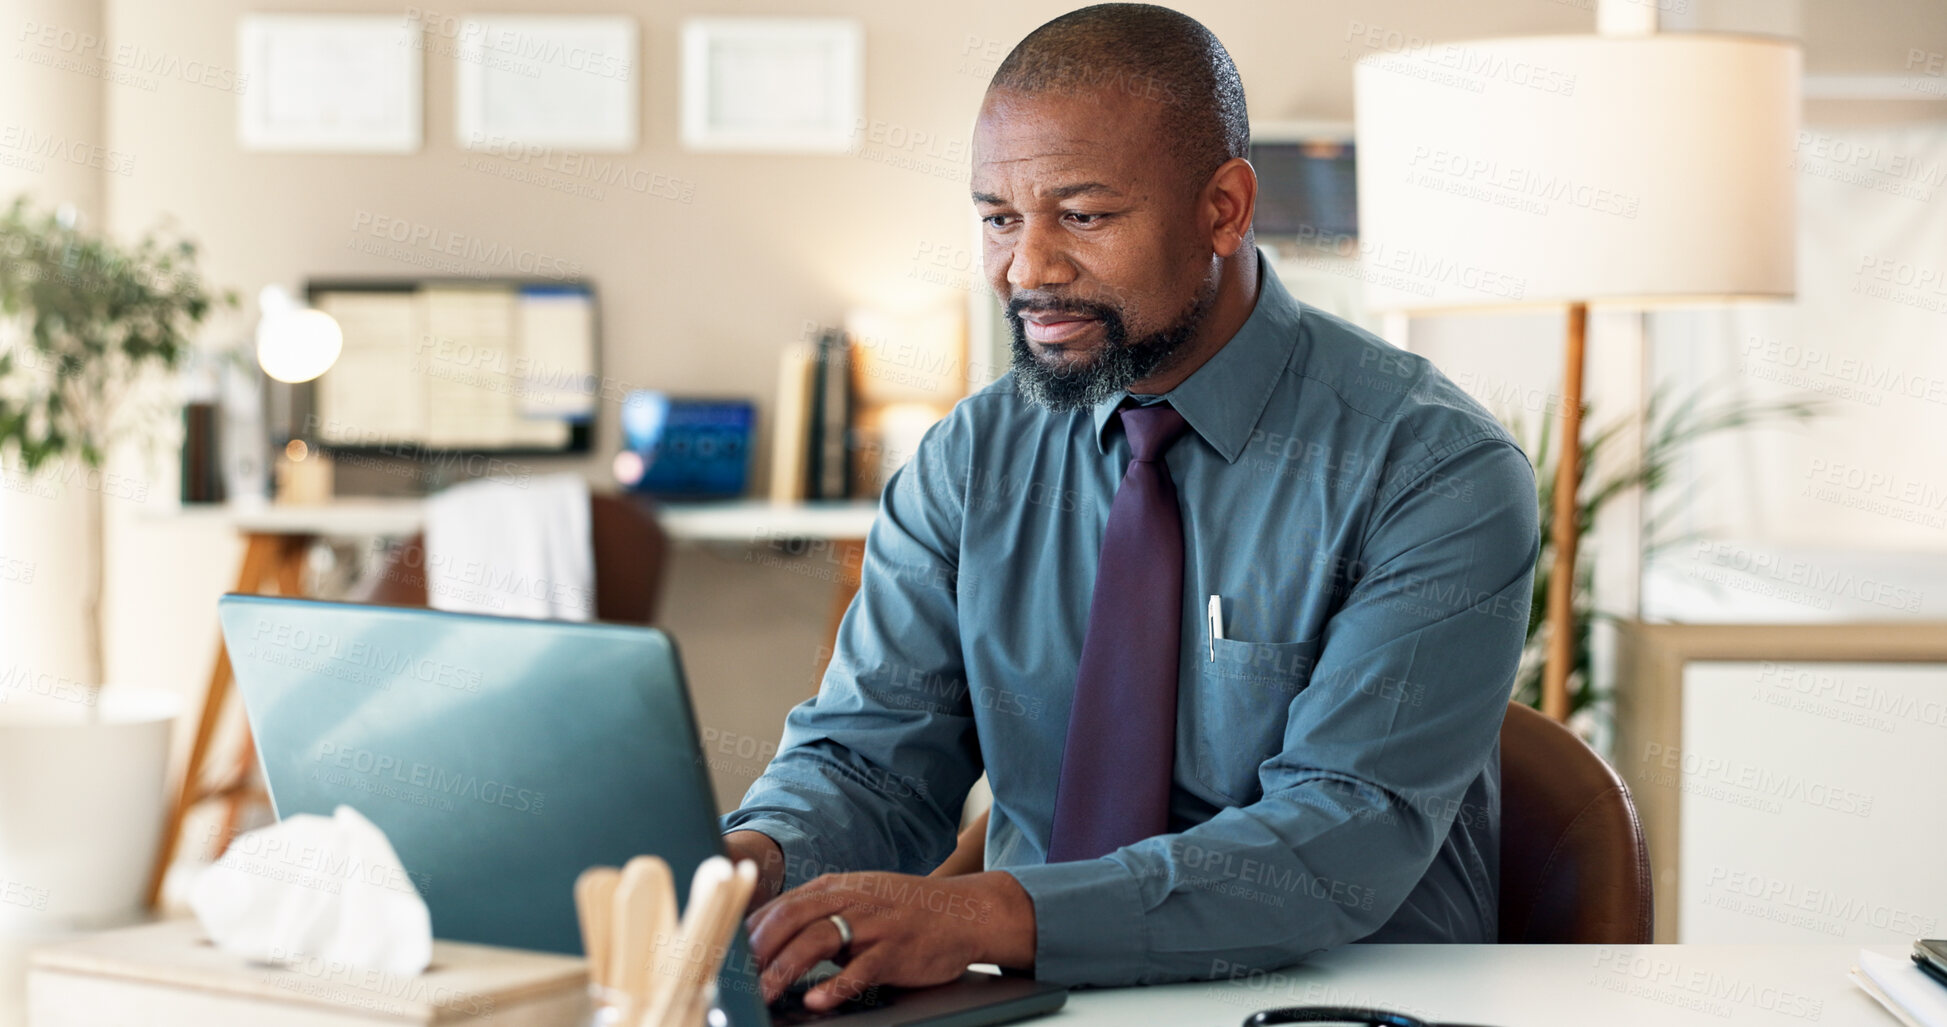
<path id="1" fill-rule="evenodd" d="M 935 877 L 983 865 L 987 815 Z M 1519 704 L 1501 721 L 1501 943 L 1649 943 L 1649 850 L 1628 785 L 1581 739 Z"/>

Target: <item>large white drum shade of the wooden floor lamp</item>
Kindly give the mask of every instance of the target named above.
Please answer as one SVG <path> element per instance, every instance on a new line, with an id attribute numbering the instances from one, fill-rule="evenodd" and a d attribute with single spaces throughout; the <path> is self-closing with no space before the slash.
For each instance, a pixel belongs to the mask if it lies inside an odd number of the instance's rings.
<path id="1" fill-rule="evenodd" d="M 1799 47 L 1733 35 L 1437 43 L 1359 60 L 1373 310 L 1795 290 Z"/>

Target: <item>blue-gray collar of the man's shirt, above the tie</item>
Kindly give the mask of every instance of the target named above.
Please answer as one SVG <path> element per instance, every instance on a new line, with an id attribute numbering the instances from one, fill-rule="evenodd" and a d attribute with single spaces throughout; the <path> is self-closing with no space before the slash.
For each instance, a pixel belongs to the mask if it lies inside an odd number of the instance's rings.
<path id="1" fill-rule="evenodd" d="M 1250 318 L 1203 366 L 1162 398 L 1225 462 L 1236 464 L 1297 345 L 1299 302 L 1277 281 L 1269 253 L 1258 249 L 1258 304 Z M 1104 454 L 1108 419 L 1125 398 L 1129 394 L 1120 392 L 1094 405 L 1096 448 Z"/>

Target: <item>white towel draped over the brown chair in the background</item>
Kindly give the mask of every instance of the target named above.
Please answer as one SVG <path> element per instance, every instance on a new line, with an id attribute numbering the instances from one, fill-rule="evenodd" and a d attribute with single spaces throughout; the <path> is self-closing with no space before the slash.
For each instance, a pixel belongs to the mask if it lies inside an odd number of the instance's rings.
<path id="1" fill-rule="evenodd" d="M 479 479 L 426 503 L 426 600 L 436 610 L 594 620 L 588 481 Z"/>

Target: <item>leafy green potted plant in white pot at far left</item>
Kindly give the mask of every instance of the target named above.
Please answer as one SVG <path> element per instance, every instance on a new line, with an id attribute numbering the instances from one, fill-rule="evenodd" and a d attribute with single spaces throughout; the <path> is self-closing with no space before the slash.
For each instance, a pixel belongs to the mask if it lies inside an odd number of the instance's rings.
<path id="1" fill-rule="evenodd" d="M 0 682 L 4 928 L 103 926 L 140 912 L 179 704 L 158 688 L 101 686 L 103 505 L 146 491 L 107 462 L 117 442 L 154 431 L 165 405 L 144 396 L 169 384 L 197 325 L 234 304 L 204 285 L 195 244 L 179 236 L 125 246 L 25 199 L 0 216 L 0 474 L 16 509 L 78 489 L 88 542 L 88 678 L 14 663 Z M 16 561 L 51 542 L 18 528 L 4 538 Z M 19 629 L 0 624 L 0 639 Z"/>

